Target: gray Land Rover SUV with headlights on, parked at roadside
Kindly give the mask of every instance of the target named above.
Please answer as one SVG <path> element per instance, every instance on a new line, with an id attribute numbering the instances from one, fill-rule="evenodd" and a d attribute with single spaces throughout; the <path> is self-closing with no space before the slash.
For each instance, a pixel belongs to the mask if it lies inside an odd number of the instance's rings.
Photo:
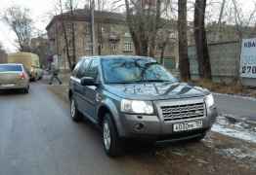
<path id="1" fill-rule="evenodd" d="M 72 120 L 85 116 L 100 126 L 110 157 L 119 155 L 128 139 L 200 140 L 217 117 L 207 89 L 178 82 L 150 57 L 82 57 L 68 95 Z"/>

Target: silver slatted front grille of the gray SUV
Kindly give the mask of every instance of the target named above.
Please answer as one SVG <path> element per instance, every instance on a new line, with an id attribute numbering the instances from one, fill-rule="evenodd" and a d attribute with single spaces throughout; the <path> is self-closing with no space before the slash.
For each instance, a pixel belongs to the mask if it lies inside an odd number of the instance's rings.
<path id="1" fill-rule="evenodd" d="M 204 103 L 162 106 L 161 112 L 164 122 L 197 119 L 205 116 Z"/>

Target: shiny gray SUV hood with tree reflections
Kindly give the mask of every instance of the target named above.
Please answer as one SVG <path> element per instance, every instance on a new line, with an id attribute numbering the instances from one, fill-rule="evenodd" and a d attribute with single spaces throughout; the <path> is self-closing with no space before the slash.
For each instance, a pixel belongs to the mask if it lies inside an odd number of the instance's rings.
<path id="1" fill-rule="evenodd" d="M 164 100 L 204 96 L 207 89 L 192 87 L 185 83 L 146 83 L 106 85 L 107 91 L 121 98 L 135 100 Z"/>

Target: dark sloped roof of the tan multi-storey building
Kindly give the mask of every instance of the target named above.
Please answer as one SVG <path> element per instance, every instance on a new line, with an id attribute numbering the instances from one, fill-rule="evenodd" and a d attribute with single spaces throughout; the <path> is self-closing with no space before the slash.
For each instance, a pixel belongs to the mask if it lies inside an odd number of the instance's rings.
<path id="1" fill-rule="evenodd" d="M 74 17 L 71 16 L 70 12 L 64 13 L 64 20 L 75 20 L 75 21 L 90 21 L 91 11 L 89 9 L 77 9 L 74 11 Z M 46 26 L 48 30 L 56 20 L 60 20 L 61 15 L 55 16 L 51 19 L 50 23 Z M 112 13 L 107 11 L 95 11 L 95 22 L 102 23 L 124 23 L 125 15 L 119 13 Z"/>

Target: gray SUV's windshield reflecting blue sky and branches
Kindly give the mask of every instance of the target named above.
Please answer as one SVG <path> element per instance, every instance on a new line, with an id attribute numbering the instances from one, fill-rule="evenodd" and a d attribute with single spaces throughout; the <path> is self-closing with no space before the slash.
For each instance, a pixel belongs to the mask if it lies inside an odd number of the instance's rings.
<path id="1" fill-rule="evenodd" d="M 103 59 L 102 64 L 107 84 L 177 82 L 163 66 L 153 59 Z"/>

